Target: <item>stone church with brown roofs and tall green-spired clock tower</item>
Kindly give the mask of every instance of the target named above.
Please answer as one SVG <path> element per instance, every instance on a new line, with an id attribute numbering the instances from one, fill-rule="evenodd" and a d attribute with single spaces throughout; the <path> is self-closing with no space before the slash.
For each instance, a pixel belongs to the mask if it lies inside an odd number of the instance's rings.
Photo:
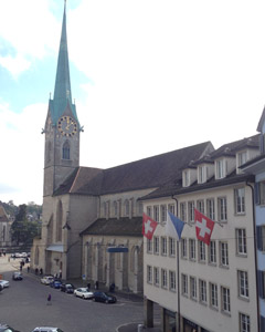
<path id="1" fill-rule="evenodd" d="M 81 132 L 72 102 L 64 7 L 54 95 L 43 129 L 42 231 L 33 242 L 31 268 L 142 293 L 140 198 L 178 183 L 182 169 L 214 148 L 204 142 L 99 169 L 80 166 Z M 176 212 L 174 206 L 172 198 L 167 209 Z M 165 216 L 161 210 L 161 220 Z"/>

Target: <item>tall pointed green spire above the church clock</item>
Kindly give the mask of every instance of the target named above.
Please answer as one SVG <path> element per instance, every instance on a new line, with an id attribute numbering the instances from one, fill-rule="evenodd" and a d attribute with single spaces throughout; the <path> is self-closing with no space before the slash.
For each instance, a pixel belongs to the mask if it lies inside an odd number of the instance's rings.
<path id="1" fill-rule="evenodd" d="M 66 34 L 66 1 L 64 1 L 63 25 L 62 25 L 62 34 L 61 34 L 60 49 L 59 49 L 54 96 L 53 96 L 53 101 L 50 100 L 50 106 L 51 106 L 50 110 L 51 110 L 53 123 L 56 123 L 59 117 L 62 116 L 67 104 L 72 110 L 73 116 L 77 121 L 75 105 L 72 104 L 67 34 Z"/>

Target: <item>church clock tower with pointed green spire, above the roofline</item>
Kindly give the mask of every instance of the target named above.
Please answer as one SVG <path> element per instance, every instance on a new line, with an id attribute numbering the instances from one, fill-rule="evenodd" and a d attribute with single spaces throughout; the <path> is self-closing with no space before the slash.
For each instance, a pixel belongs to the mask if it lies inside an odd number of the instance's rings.
<path id="1" fill-rule="evenodd" d="M 80 166 L 80 123 L 72 103 L 66 35 L 66 1 L 57 58 L 53 100 L 49 101 L 45 122 L 43 196 L 52 196 L 68 175 Z"/>

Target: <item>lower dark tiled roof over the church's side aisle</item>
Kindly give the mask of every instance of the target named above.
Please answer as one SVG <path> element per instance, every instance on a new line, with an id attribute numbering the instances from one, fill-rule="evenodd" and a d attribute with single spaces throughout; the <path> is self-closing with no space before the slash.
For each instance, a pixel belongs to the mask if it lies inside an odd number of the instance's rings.
<path id="1" fill-rule="evenodd" d="M 81 235 L 141 237 L 142 217 L 97 219 Z"/>

